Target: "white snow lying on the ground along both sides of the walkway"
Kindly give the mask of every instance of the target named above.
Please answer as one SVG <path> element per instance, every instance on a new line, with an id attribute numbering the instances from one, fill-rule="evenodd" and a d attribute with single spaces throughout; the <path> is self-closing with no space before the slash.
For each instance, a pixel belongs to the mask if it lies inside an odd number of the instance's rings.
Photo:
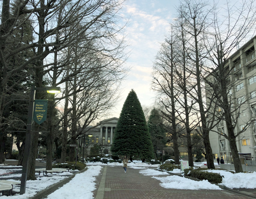
<path id="1" fill-rule="evenodd" d="M 91 163 L 90 163 L 91 164 Z M 92 199 L 93 191 L 96 189 L 96 176 L 102 174 L 102 168 L 105 166 L 103 163 L 92 163 L 93 165 L 88 166 L 88 170 L 82 173 L 78 173 L 75 177 L 64 186 L 60 187 L 50 195 L 48 199 L 66 199 L 66 198 L 82 198 L 82 199 Z M 206 162 L 195 163 L 196 166 L 203 166 Z M 216 163 L 217 164 L 217 163 Z M 109 166 L 122 166 L 122 163 L 109 163 Z M 208 181 L 194 181 L 187 178 L 183 178 L 177 175 L 168 175 L 167 172 L 160 172 L 155 170 L 159 165 L 148 165 L 142 163 L 141 161 L 134 161 L 129 163 L 129 169 L 139 169 L 139 173 L 143 175 L 149 175 L 159 181 L 160 186 L 166 189 L 211 189 L 211 190 L 221 190 L 221 188 L 215 184 L 211 184 Z M 217 166 L 217 165 L 216 165 Z M 5 169 L 3 169 L 5 167 Z M 20 170 L 22 167 L 20 167 Z M 0 164 L 0 175 L 10 178 L 10 176 L 21 176 L 21 174 L 8 174 L 14 169 L 13 166 L 8 166 Z M 256 188 L 256 172 L 253 173 L 231 173 L 225 170 L 207 170 L 208 172 L 220 173 L 224 176 L 223 181 L 220 185 L 224 185 L 228 188 Z M 173 173 L 179 173 L 180 169 L 174 169 Z M 60 176 L 63 173 L 56 173 L 56 175 L 44 176 L 42 173 L 35 181 L 27 181 L 26 193 L 23 195 L 12 195 L 12 196 L 1 196 L 1 199 L 27 199 L 36 194 L 36 192 L 41 191 L 49 187 L 50 185 L 57 183 L 71 175 L 71 172 L 64 172 L 67 176 Z M 165 176 L 161 176 L 165 175 Z M 1 176 L 3 178 L 3 176 Z M 70 191 L 72 190 L 72 191 Z M 18 187 L 14 185 L 14 191 L 19 191 Z"/>

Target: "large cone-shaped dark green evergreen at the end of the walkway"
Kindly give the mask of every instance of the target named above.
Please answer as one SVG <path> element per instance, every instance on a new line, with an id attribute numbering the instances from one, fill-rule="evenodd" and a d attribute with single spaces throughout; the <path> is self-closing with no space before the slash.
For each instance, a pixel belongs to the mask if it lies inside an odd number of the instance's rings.
<path id="1" fill-rule="evenodd" d="M 117 123 L 112 153 L 151 159 L 153 146 L 139 99 L 132 90 L 127 96 Z"/>

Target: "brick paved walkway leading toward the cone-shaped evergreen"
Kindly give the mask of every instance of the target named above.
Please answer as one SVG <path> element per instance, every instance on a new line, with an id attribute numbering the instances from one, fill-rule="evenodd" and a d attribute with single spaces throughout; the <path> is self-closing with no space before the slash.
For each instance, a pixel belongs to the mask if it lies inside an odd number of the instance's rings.
<path id="1" fill-rule="evenodd" d="M 179 190 L 165 189 L 159 185 L 160 181 L 139 173 L 140 169 L 121 166 L 103 166 L 101 175 L 97 177 L 95 199 L 122 198 L 251 198 L 227 190 Z M 166 175 L 161 175 L 166 176 Z"/>

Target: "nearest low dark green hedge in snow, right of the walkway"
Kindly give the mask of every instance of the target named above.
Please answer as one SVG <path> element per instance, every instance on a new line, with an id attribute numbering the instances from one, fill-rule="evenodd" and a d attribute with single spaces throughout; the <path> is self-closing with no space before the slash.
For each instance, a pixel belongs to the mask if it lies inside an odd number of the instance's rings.
<path id="1" fill-rule="evenodd" d="M 210 183 L 222 183 L 222 175 L 220 175 L 219 173 L 211 173 L 204 170 L 207 170 L 207 168 L 189 168 L 185 169 L 184 173 L 186 176 L 197 178 L 199 180 L 208 180 Z"/>

